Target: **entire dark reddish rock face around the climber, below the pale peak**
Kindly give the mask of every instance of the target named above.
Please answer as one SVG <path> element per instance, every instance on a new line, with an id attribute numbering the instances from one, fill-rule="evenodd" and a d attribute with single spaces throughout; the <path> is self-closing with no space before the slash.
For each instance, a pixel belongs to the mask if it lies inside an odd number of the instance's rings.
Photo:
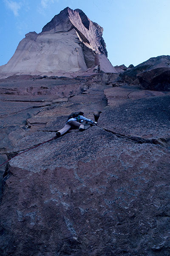
<path id="1" fill-rule="evenodd" d="M 97 121 L 0 167 L 0 255 L 170 255 L 170 93 L 116 77 L 0 80 L 2 163 L 73 111 Z"/>

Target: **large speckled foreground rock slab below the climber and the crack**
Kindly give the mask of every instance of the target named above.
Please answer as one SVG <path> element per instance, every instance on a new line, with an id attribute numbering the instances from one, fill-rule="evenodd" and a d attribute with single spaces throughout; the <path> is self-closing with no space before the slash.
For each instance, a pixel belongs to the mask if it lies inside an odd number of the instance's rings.
<path id="1" fill-rule="evenodd" d="M 166 148 L 99 127 L 14 158 L 3 186 L 1 255 L 168 256 L 169 160 Z"/>

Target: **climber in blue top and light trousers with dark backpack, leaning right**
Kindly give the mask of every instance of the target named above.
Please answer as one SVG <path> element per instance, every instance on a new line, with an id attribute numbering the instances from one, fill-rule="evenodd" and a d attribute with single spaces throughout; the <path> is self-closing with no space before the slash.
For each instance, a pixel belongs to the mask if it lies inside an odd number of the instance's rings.
<path id="1" fill-rule="evenodd" d="M 97 122 L 94 122 L 91 119 L 85 118 L 84 113 L 81 111 L 71 113 L 71 115 L 68 116 L 65 126 L 61 130 L 57 131 L 54 139 L 59 138 L 61 135 L 65 134 L 67 131 L 69 131 L 71 128 L 79 128 L 79 131 L 84 131 L 85 128 L 84 128 L 83 122 L 97 124 Z"/>

